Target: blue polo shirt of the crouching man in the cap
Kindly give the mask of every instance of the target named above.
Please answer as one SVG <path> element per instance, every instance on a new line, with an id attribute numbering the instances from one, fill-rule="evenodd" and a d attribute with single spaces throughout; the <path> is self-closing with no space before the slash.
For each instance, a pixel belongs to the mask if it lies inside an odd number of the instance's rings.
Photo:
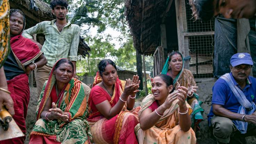
<path id="1" fill-rule="evenodd" d="M 247 78 L 245 88 L 241 89 L 236 80 L 234 79 L 232 73 L 229 73 L 235 85 L 237 85 L 240 90 L 245 94 L 249 102 L 253 101 L 256 104 L 256 78 L 249 76 Z M 213 97 L 212 104 L 223 105 L 223 108 L 237 113 L 240 107 L 240 103 L 237 101 L 236 96 L 234 96 L 232 90 L 230 89 L 228 83 L 222 78 L 219 78 L 213 86 Z M 246 113 L 248 111 L 246 110 Z M 213 107 L 210 109 L 208 117 L 208 123 L 210 125 L 210 119 L 213 117 Z"/>

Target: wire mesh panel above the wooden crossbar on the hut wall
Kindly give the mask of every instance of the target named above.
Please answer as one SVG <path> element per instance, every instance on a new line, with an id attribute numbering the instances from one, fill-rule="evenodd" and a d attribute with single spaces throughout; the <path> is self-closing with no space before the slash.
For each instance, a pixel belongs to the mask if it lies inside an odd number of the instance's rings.
<path id="1" fill-rule="evenodd" d="M 192 18 L 192 10 L 188 0 L 183 1 L 185 11 L 183 12 L 184 32 L 211 32 L 214 31 L 214 18 L 208 21 L 199 21 Z"/>

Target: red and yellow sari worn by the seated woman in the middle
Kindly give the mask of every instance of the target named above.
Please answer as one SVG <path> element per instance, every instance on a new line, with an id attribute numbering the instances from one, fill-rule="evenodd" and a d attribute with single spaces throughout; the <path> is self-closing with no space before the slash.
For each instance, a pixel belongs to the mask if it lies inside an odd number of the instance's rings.
<path id="1" fill-rule="evenodd" d="M 108 100 L 111 107 L 114 107 L 123 93 L 125 81 L 117 78 L 112 98 L 103 88 L 95 86 L 100 82 L 101 79 L 97 73 L 88 100 L 90 114 L 87 120 L 91 127 L 93 142 L 101 144 L 138 144 L 134 127 L 139 123 L 139 108 L 128 111 L 125 104 L 123 110 L 118 115 L 108 120 L 101 115 L 95 106 Z"/>

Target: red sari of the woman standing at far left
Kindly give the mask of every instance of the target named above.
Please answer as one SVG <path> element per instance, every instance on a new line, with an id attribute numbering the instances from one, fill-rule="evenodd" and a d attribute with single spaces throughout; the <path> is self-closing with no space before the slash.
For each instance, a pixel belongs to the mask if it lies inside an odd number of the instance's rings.
<path id="1" fill-rule="evenodd" d="M 15 115 L 13 116 L 13 119 L 25 134 L 25 119 L 27 116 L 28 102 L 30 100 L 30 90 L 28 86 L 28 76 L 25 74 L 24 66 L 37 59 L 42 52 L 35 43 L 30 39 L 24 38 L 21 34 L 11 37 L 10 45 L 18 65 L 24 70 L 24 74 L 15 76 L 13 79 L 7 81 L 7 84 L 8 90 L 11 92 L 10 96 L 14 101 Z M 22 144 L 24 143 L 25 138 L 26 137 L 24 136 L 7 139 L 5 141 L 0 141 L 0 144 Z"/>

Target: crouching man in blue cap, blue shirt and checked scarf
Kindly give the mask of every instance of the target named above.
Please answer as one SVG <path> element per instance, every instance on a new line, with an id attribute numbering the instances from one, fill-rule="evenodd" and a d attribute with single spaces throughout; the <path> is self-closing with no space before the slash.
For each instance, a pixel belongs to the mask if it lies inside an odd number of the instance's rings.
<path id="1" fill-rule="evenodd" d="M 256 78 L 249 76 L 253 60 L 249 53 L 236 53 L 230 59 L 231 73 L 213 86 L 209 126 L 217 143 L 246 143 L 256 135 Z"/>

